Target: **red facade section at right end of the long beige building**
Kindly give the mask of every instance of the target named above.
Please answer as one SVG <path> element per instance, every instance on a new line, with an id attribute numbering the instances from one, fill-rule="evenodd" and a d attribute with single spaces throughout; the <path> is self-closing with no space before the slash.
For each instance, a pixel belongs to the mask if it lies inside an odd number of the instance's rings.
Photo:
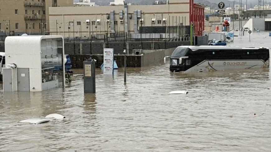
<path id="1" fill-rule="evenodd" d="M 194 4 L 194 0 L 189 1 L 189 23 L 193 23 L 195 36 L 202 36 L 204 30 L 204 7 Z"/>

